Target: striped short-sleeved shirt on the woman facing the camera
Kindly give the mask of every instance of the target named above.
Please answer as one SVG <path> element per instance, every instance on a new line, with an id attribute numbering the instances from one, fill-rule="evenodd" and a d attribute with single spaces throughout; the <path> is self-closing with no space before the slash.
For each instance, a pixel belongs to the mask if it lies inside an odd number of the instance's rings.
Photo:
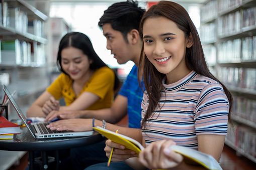
<path id="1" fill-rule="evenodd" d="M 190 72 L 173 84 L 164 84 L 157 107 L 142 128 L 146 145 L 172 139 L 177 145 L 198 149 L 197 135 L 226 135 L 229 103 L 222 86 L 215 80 Z M 166 95 L 166 96 L 165 96 Z M 141 117 L 148 107 L 144 92 Z"/>

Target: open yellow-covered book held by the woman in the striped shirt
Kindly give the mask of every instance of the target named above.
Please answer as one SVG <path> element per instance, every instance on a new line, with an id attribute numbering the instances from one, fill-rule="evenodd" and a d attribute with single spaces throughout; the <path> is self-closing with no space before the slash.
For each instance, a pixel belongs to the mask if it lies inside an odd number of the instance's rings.
<path id="1" fill-rule="evenodd" d="M 101 133 L 104 135 L 106 138 L 112 140 L 115 143 L 119 143 L 124 145 L 126 148 L 131 149 L 135 151 L 136 153 L 139 153 L 140 150 L 143 150 L 144 147 L 136 140 L 125 136 L 123 134 L 115 133 L 113 131 L 104 129 L 102 127 L 93 127 L 95 131 Z M 174 150 L 177 153 L 180 153 L 184 156 L 185 159 L 190 159 L 194 163 L 198 163 L 203 165 L 204 167 L 208 169 L 216 169 L 216 170 L 221 170 L 221 166 L 217 162 L 216 159 L 214 159 L 211 155 L 202 153 L 198 150 L 188 148 L 185 146 L 178 146 L 178 145 L 172 145 L 170 146 L 172 150 Z"/>

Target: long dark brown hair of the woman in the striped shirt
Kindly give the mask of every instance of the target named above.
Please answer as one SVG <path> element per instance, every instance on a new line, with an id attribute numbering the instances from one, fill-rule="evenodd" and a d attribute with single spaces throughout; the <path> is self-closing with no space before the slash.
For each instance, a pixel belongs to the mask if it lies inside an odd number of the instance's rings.
<path id="1" fill-rule="evenodd" d="M 198 32 L 196 30 L 195 25 L 193 24 L 191 18 L 187 11 L 179 4 L 168 1 L 160 1 L 158 4 L 152 6 L 142 17 L 140 21 L 140 36 L 142 36 L 143 24 L 148 18 L 152 17 L 165 17 L 173 22 L 175 22 L 179 29 L 181 29 L 185 33 L 185 37 L 188 38 L 190 33 L 193 38 L 193 46 L 190 48 L 186 48 L 186 65 L 190 70 L 194 70 L 195 72 L 209 77 L 213 80 L 219 82 L 229 101 L 229 114 L 228 120 L 230 121 L 230 113 L 232 109 L 232 95 L 227 90 L 227 88 L 222 84 L 216 77 L 214 77 L 206 64 L 203 48 L 200 42 L 200 38 Z M 143 68 L 142 68 L 143 67 Z M 159 99 L 160 99 L 160 91 L 163 90 L 162 79 L 165 76 L 162 73 L 159 73 L 153 64 L 147 59 L 144 53 L 144 47 L 141 51 L 141 57 L 139 62 L 139 71 L 138 76 L 143 72 L 143 79 L 147 94 L 149 96 L 149 105 L 146 111 L 146 115 L 142 120 L 142 127 L 145 127 L 145 121 L 150 118 L 153 114 L 153 111 L 158 106 L 159 107 Z M 150 81 L 153 80 L 153 81 Z"/>

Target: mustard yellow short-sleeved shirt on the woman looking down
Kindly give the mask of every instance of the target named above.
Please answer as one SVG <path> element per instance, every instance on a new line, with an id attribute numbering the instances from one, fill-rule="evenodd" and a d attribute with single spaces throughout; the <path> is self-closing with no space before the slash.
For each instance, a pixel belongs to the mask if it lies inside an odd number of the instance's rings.
<path id="1" fill-rule="evenodd" d="M 100 100 L 87 108 L 87 110 L 97 110 L 109 108 L 114 99 L 114 72 L 109 67 L 101 67 L 95 71 L 88 82 L 83 86 L 80 94 L 91 92 L 100 97 Z M 51 95 L 59 100 L 64 98 L 66 105 L 70 105 L 78 96 L 75 95 L 72 88 L 73 80 L 64 73 L 61 73 L 57 79 L 46 89 Z M 84 101 L 86 102 L 86 101 Z"/>

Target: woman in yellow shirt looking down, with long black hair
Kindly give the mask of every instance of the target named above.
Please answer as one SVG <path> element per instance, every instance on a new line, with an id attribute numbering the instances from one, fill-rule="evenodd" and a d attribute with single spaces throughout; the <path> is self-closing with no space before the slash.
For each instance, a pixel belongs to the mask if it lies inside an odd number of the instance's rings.
<path id="1" fill-rule="evenodd" d="M 31 105 L 28 117 L 45 117 L 53 110 L 96 110 L 111 106 L 119 80 L 96 54 L 86 35 L 72 32 L 61 39 L 57 65 L 62 73 Z M 61 97 L 66 106 L 59 105 Z"/>

